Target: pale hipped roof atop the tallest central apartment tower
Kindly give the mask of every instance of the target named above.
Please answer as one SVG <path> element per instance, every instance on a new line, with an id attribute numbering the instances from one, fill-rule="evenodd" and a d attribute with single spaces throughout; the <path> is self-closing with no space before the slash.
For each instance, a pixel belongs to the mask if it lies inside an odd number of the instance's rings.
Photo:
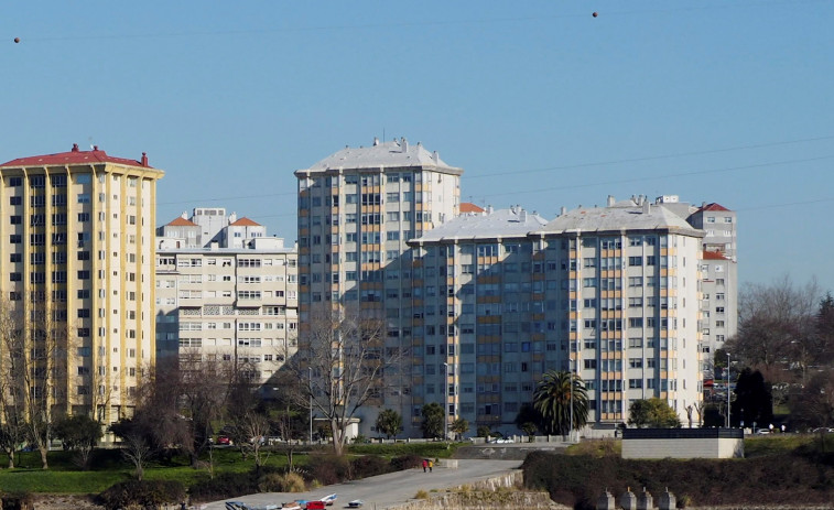
<path id="1" fill-rule="evenodd" d="M 462 169 L 447 165 L 437 152 L 429 152 L 418 142 L 411 144 L 405 139 L 391 142 L 373 141 L 371 147 L 349 148 L 332 154 L 310 169 L 297 172 L 322 172 L 332 169 L 379 169 L 383 167 L 429 167 L 444 173 L 461 175 Z"/>

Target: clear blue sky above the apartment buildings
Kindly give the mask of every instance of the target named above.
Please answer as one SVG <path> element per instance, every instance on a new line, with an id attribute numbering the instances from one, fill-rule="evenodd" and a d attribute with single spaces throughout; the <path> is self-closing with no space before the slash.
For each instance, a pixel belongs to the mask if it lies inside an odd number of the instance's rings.
<path id="1" fill-rule="evenodd" d="M 830 0 L 13 2 L 0 160 L 148 152 L 159 223 L 224 206 L 292 241 L 292 172 L 384 133 L 548 218 L 717 202 L 743 281 L 834 290 L 832 26 Z"/>

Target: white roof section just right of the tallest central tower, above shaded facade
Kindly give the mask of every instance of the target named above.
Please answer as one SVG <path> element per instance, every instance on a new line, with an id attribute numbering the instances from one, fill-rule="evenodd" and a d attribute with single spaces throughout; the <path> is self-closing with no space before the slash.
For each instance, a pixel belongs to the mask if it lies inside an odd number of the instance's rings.
<path id="1" fill-rule="evenodd" d="M 538 214 L 528 213 L 521 207 L 511 207 L 492 213 L 458 216 L 410 242 L 523 237 L 541 230 L 546 224 L 548 220 Z"/>

